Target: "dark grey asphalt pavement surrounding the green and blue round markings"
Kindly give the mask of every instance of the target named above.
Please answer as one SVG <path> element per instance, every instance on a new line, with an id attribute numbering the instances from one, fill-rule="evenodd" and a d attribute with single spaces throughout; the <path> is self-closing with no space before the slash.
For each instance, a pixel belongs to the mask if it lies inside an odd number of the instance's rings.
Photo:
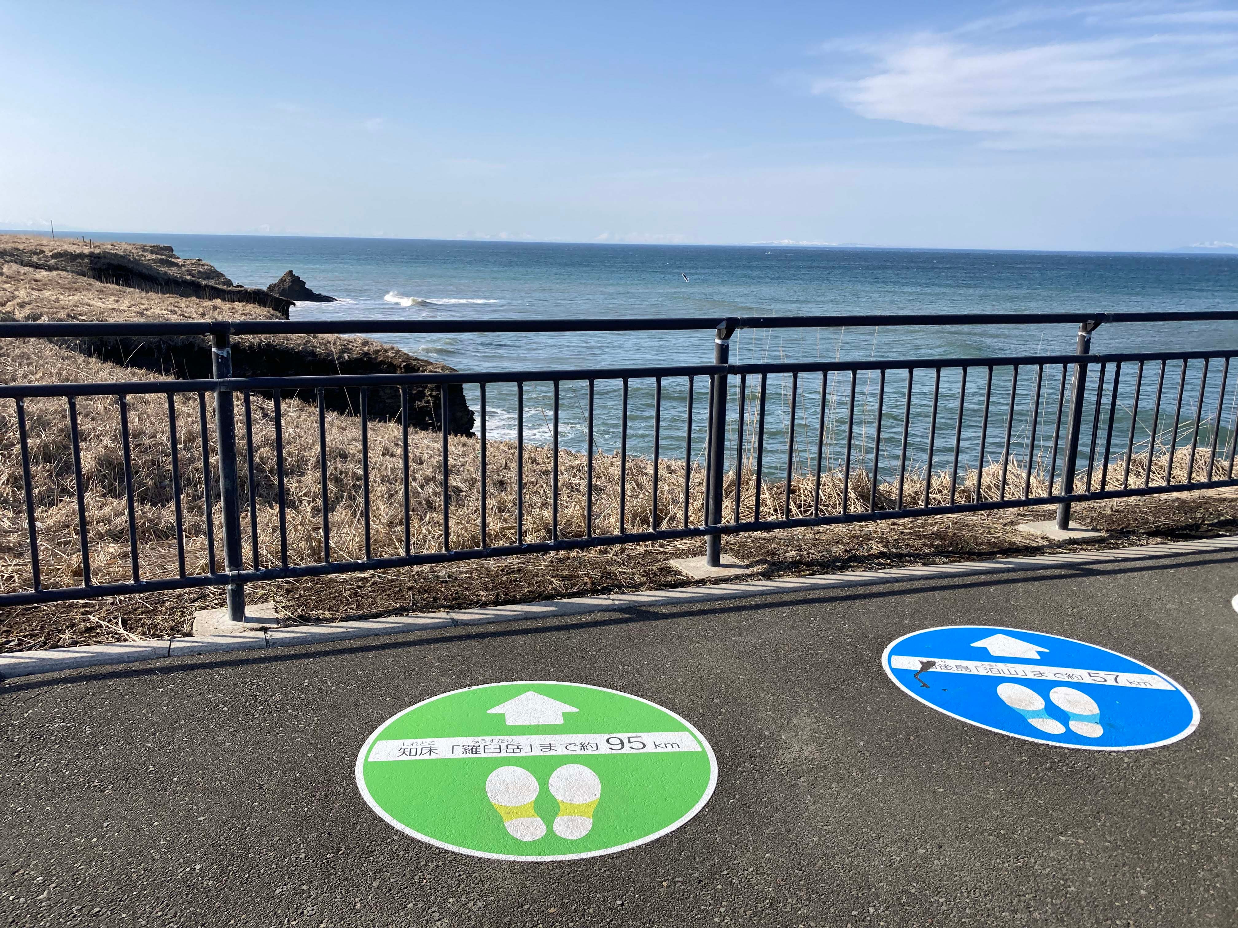
<path id="1" fill-rule="evenodd" d="M 1238 556 L 631 609 L 0 685 L 0 924 L 1234 926 Z M 1130 655 L 1202 721 L 1066 750 L 894 687 L 883 648 L 993 624 Z M 384 720 L 479 683 L 633 693 L 717 789 L 618 854 L 464 856 L 353 778 Z"/>

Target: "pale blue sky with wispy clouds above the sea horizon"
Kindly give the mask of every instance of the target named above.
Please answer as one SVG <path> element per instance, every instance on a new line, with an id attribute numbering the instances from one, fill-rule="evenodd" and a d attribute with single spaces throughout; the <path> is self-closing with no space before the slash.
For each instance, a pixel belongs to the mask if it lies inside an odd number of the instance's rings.
<path id="1" fill-rule="evenodd" d="M 0 228 L 1238 243 L 1238 2 L 0 0 Z"/>

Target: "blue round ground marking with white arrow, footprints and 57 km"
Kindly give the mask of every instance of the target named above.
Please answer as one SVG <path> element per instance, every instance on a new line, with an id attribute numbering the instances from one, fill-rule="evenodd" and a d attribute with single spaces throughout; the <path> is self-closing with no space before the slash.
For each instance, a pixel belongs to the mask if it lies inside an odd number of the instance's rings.
<path id="1" fill-rule="evenodd" d="M 904 635 L 881 656 L 904 692 L 962 721 L 1093 751 L 1190 735 L 1200 708 L 1177 683 L 1117 651 L 1057 635 L 948 625 Z"/>

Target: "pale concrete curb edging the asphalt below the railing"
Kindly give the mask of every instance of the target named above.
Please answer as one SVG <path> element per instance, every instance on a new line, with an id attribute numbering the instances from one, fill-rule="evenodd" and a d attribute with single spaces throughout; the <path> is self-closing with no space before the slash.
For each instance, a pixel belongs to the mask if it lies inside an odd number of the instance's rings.
<path id="1" fill-rule="evenodd" d="M 1150 561 L 1180 554 L 1211 554 L 1218 551 L 1238 551 L 1238 536 L 1206 538 L 1192 542 L 1170 542 L 1169 544 L 1148 544 L 1136 548 L 1114 548 L 1112 551 L 1041 554 L 1023 558 L 1000 558 L 997 561 L 969 561 L 957 564 L 898 567 L 888 570 L 854 570 L 841 574 L 785 577 L 770 580 L 737 580 L 707 586 L 680 586 L 669 590 L 579 596 L 576 599 L 493 606 L 490 609 L 456 609 L 447 612 L 358 619 L 323 625 L 301 625 L 286 629 L 270 629 L 265 632 L 215 635 L 204 638 L 128 641 L 116 645 L 64 647 L 52 651 L 19 651 L 11 655 L 0 655 L 0 679 L 103 664 L 137 663 L 166 657 L 318 645 L 373 635 L 404 635 L 413 631 L 484 625 L 489 622 L 558 619 L 569 615 L 582 615 L 584 612 L 617 611 L 631 606 L 711 603 L 727 599 L 766 596 L 774 593 L 791 593 L 795 590 L 831 590 L 844 589 L 847 586 L 900 583 L 904 580 L 925 580 L 935 577 L 1047 570 L 1063 567 L 1086 567 L 1088 564 L 1110 564 L 1117 561 Z"/>

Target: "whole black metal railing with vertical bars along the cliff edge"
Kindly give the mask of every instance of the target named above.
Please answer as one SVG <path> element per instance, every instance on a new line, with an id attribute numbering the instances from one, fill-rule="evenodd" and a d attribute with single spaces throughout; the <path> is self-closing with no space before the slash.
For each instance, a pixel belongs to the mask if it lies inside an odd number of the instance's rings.
<path id="1" fill-rule="evenodd" d="M 1238 312 L 0 324 L 204 335 L 214 361 L 207 380 L 0 386 L 26 523 L 7 547 L 28 579 L 9 569 L 0 605 L 225 586 L 241 619 L 245 584 L 281 578 L 692 536 L 717 564 L 734 532 L 1041 504 L 1065 527 L 1073 502 L 1238 484 L 1238 349 L 1091 354 L 1102 323 L 1185 319 Z M 1046 322 L 1080 324 L 1076 354 L 729 361 L 742 328 Z M 238 334 L 692 328 L 716 330 L 714 364 L 232 376 Z M 459 387 L 477 438 L 451 433 Z M 329 413 L 333 391 L 358 415 Z M 397 416 L 371 415 L 379 391 Z M 410 426 L 413 391 L 435 398 L 435 432 Z M 500 402 L 515 431 L 496 440 Z"/>

